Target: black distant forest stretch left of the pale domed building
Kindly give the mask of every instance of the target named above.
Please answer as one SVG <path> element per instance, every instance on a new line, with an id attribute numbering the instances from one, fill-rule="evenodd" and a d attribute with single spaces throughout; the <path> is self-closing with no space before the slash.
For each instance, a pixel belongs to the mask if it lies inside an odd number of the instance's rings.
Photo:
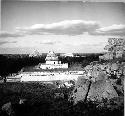
<path id="1" fill-rule="evenodd" d="M 0 55 L 0 75 L 7 76 L 11 73 L 17 73 L 23 67 L 34 66 L 39 62 L 45 62 L 44 57 L 29 57 L 28 55 Z"/>

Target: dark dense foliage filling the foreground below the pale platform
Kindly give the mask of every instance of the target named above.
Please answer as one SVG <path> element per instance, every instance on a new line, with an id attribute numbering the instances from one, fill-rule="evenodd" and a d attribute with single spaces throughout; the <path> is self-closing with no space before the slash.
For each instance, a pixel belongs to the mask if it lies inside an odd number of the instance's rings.
<path id="1" fill-rule="evenodd" d="M 16 116 L 123 116 L 123 100 L 73 105 L 68 101 L 72 89 L 57 89 L 54 85 L 41 83 L 3 83 L 0 85 L 0 107 L 11 101 Z M 64 96 L 55 97 L 56 93 Z M 18 104 L 20 98 L 27 99 L 25 104 Z M 0 115 L 4 113 L 0 111 Z"/>

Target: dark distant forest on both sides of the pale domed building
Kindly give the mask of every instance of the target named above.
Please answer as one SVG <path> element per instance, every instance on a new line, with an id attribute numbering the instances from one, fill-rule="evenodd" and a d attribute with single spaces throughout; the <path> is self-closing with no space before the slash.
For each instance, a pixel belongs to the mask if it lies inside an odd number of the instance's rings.
<path id="1" fill-rule="evenodd" d="M 85 67 L 92 61 L 98 61 L 100 54 L 88 54 L 86 57 L 59 57 L 62 63 L 69 63 L 69 66 L 81 64 Z M 45 63 L 45 55 L 38 57 L 29 57 L 29 55 L 0 55 L 0 75 L 7 76 L 17 73 L 23 67 L 35 66 L 39 63 Z"/>

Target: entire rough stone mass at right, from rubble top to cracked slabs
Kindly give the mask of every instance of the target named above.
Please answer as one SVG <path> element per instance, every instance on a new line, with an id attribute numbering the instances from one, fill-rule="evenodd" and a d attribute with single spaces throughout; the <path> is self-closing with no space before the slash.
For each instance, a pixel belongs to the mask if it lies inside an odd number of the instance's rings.
<path id="1" fill-rule="evenodd" d="M 86 76 L 78 78 L 72 92 L 71 98 L 75 104 L 85 100 L 101 102 L 103 99 L 117 98 L 119 93 L 124 93 L 124 62 L 94 65 L 91 63 L 84 71 Z"/>

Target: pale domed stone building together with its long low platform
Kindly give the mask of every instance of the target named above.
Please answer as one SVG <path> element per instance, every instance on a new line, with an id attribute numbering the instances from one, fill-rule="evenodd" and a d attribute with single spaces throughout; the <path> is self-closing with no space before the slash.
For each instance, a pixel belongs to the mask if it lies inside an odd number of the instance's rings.
<path id="1" fill-rule="evenodd" d="M 77 80 L 83 76 L 83 71 L 49 71 L 49 69 L 68 69 L 68 63 L 61 63 L 58 56 L 54 52 L 49 52 L 45 58 L 45 63 L 39 63 L 35 71 L 20 72 L 15 76 L 7 77 L 7 81 L 20 82 L 53 82 L 53 81 L 70 81 Z M 39 70 L 43 69 L 43 70 Z"/>

